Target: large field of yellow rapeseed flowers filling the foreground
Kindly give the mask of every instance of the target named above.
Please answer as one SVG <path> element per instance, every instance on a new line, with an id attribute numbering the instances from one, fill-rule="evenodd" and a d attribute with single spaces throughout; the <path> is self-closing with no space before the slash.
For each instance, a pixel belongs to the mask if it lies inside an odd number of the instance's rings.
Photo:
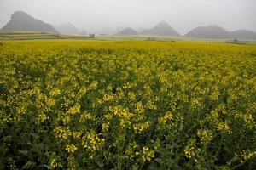
<path id="1" fill-rule="evenodd" d="M 0 169 L 255 169 L 256 46 L 2 41 Z"/>

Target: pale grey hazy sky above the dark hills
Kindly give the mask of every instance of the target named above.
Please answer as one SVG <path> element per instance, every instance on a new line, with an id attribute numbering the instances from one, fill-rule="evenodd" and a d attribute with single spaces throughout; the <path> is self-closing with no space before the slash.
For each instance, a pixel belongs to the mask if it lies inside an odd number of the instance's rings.
<path id="1" fill-rule="evenodd" d="M 52 25 L 69 22 L 86 31 L 148 28 L 161 20 L 182 34 L 212 24 L 229 31 L 256 31 L 256 0 L 0 0 L 0 27 L 16 10 Z"/>

